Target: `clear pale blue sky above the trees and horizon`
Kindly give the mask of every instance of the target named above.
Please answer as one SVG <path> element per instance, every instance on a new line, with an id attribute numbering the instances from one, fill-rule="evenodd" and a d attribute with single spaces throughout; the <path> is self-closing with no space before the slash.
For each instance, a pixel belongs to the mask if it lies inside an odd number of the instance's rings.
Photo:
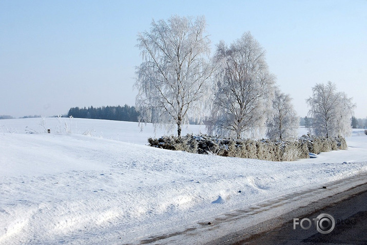
<path id="1" fill-rule="evenodd" d="M 134 105 L 137 33 L 152 18 L 205 15 L 215 45 L 250 31 L 299 116 L 332 81 L 367 116 L 367 1 L 0 1 L 0 115 Z"/>

